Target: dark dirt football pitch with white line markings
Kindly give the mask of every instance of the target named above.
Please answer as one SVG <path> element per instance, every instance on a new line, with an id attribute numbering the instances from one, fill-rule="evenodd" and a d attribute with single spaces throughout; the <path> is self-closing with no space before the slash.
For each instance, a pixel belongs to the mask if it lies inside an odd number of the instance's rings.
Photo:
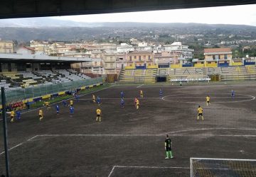
<path id="1" fill-rule="evenodd" d="M 73 116 L 59 103 L 60 114 L 50 105 L 41 122 L 38 110 L 22 113 L 21 121 L 8 120 L 11 176 L 190 176 L 191 157 L 256 159 L 255 82 L 114 85 L 95 96 L 102 99 L 102 122 L 95 121 L 92 94 L 73 99 Z M 197 120 L 198 105 L 204 120 Z M 2 125 L 0 130 L 1 175 Z M 166 134 L 174 159 L 165 159 Z"/>

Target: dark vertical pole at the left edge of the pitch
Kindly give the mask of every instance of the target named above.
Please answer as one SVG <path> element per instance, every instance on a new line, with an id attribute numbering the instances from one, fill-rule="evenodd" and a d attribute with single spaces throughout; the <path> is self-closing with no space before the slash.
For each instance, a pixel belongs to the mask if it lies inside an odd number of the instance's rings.
<path id="1" fill-rule="evenodd" d="M 1 104 L 2 104 L 2 116 L 3 116 L 3 126 L 4 126 L 4 152 L 5 152 L 5 162 L 6 162 L 6 177 L 9 177 L 9 154 L 8 154 L 8 144 L 7 144 L 7 125 L 6 125 L 6 96 L 4 93 L 4 87 L 1 87 Z"/>

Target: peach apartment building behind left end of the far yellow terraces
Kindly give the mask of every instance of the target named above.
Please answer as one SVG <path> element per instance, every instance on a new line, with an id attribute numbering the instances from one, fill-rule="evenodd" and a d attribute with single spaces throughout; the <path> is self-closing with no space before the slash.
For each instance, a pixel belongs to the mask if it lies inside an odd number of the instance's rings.
<path id="1" fill-rule="evenodd" d="M 153 65 L 154 55 L 149 51 L 133 51 L 127 53 L 127 66 L 142 67 Z"/>

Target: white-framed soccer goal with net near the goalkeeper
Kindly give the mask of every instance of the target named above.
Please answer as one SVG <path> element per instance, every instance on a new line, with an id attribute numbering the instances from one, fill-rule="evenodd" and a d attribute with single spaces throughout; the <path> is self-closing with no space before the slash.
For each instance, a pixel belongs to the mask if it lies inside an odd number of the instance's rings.
<path id="1" fill-rule="evenodd" d="M 256 176 L 256 159 L 191 158 L 191 177 Z"/>

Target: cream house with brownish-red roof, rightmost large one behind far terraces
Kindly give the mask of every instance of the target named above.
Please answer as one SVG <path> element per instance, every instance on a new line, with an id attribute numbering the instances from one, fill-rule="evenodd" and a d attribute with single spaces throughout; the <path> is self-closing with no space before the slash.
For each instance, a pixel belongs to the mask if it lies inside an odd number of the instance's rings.
<path id="1" fill-rule="evenodd" d="M 203 55 L 205 56 L 206 67 L 221 67 L 232 64 L 232 50 L 230 47 L 205 49 Z"/>

